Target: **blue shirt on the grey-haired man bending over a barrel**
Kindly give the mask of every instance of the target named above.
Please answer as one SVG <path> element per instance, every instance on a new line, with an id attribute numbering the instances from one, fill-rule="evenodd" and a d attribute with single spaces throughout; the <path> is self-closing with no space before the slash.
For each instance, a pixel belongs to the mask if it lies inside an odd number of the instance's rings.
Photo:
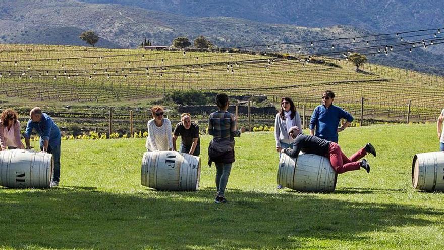
<path id="1" fill-rule="evenodd" d="M 49 141 L 49 146 L 54 148 L 60 145 L 61 134 L 60 130 L 52 121 L 51 117 L 46 113 L 43 113 L 39 122 L 33 122 L 31 119 L 28 121 L 25 138 L 31 137 L 32 130 L 40 136 L 40 146 L 43 146 L 44 140 Z"/>

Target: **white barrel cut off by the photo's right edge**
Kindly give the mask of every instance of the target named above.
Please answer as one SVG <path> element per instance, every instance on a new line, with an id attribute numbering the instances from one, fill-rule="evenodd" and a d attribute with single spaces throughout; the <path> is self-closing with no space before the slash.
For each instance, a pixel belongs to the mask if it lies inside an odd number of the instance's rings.
<path id="1" fill-rule="evenodd" d="M 413 187 L 444 191 L 444 151 L 416 154 L 412 163 Z"/>

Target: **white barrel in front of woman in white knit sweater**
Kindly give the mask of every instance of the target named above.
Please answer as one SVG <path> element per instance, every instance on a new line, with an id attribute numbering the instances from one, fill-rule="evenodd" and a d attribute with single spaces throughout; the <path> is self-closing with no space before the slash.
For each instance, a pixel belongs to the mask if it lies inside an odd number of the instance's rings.
<path id="1" fill-rule="evenodd" d="M 141 182 L 157 190 L 197 191 L 200 158 L 177 151 L 146 152 L 142 158 Z"/>

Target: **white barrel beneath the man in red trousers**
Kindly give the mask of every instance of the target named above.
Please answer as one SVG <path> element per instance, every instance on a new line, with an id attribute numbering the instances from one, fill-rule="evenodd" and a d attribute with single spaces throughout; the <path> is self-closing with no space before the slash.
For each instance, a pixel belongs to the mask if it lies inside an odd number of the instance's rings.
<path id="1" fill-rule="evenodd" d="M 333 192 L 338 174 L 328 158 L 312 154 L 300 154 L 294 158 L 281 154 L 278 184 L 303 192 Z"/>

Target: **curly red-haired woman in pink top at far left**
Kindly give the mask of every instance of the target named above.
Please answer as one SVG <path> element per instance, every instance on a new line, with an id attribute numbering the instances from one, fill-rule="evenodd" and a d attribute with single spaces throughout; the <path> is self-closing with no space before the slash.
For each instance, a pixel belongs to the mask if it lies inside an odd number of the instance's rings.
<path id="1" fill-rule="evenodd" d="M 0 115 L 0 150 L 25 148 L 20 138 L 20 122 L 17 112 L 6 109 Z"/>

